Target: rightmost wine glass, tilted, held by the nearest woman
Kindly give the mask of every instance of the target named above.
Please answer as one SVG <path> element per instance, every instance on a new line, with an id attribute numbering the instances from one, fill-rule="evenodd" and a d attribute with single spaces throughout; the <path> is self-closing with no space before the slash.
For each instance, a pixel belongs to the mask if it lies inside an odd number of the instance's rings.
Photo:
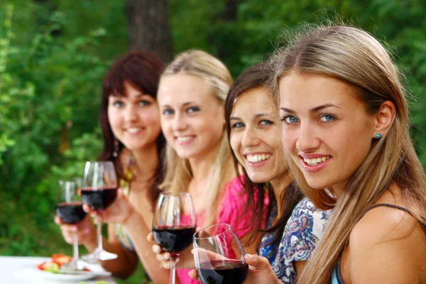
<path id="1" fill-rule="evenodd" d="M 229 224 L 215 224 L 194 234 L 194 261 L 202 284 L 240 284 L 249 265 Z"/>

